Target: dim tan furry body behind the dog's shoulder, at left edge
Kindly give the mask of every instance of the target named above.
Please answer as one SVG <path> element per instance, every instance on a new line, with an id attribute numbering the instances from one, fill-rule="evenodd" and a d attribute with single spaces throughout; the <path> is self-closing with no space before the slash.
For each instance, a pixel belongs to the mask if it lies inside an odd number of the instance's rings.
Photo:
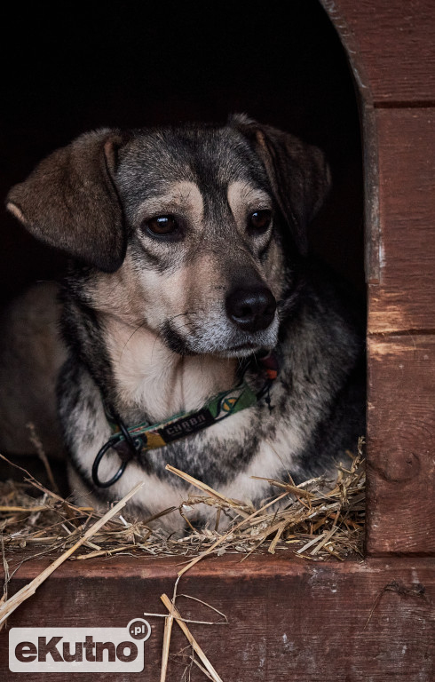
<path id="1" fill-rule="evenodd" d="M 67 349 L 59 333 L 58 293 L 56 282 L 38 282 L 0 314 L 0 453 L 30 456 L 32 463 L 32 425 L 40 449 L 61 467 L 66 453 L 56 383 Z"/>

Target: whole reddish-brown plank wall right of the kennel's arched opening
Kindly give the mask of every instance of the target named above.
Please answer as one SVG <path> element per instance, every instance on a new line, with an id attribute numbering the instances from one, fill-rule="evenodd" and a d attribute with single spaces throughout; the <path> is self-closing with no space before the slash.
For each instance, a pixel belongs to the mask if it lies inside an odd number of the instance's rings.
<path id="1" fill-rule="evenodd" d="M 369 554 L 435 552 L 435 10 L 322 2 L 366 154 Z"/>

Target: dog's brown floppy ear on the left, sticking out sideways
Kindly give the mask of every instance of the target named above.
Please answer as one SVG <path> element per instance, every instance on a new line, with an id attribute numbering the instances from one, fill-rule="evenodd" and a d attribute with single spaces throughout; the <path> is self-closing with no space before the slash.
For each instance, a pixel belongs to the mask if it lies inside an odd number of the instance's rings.
<path id="1" fill-rule="evenodd" d="M 114 272 L 123 263 L 126 234 L 113 180 L 123 137 L 108 129 L 75 139 L 12 187 L 6 206 L 43 242 Z"/>

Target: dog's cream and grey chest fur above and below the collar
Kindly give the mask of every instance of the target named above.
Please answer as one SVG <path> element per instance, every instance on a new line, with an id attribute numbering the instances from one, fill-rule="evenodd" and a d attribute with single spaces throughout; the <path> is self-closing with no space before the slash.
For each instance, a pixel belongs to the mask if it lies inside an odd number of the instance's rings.
<path id="1" fill-rule="evenodd" d="M 325 328 L 321 329 L 324 337 Z M 304 331 L 301 327 L 300 335 Z M 328 414 L 336 390 L 334 382 L 341 380 L 340 372 L 345 375 L 353 353 L 343 352 L 343 357 L 333 361 L 336 354 L 332 356 L 329 345 L 320 343 L 317 331 L 310 337 L 311 345 L 306 333 L 302 343 L 293 328 L 292 344 L 287 340 L 281 343 L 280 374 L 271 391 L 272 410 L 265 400 L 259 400 L 202 432 L 141 454 L 128 464 L 114 486 L 106 492 L 96 491 L 99 499 L 120 499 L 144 481 L 135 497 L 142 513 L 178 506 L 195 491 L 170 474 L 166 464 L 225 496 L 252 502 L 271 494 L 266 479 L 304 472 L 301 457 L 313 441 L 317 424 Z M 231 362 L 207 356 L 180 357 L 146 330 L 133 329 L 132 333 L 127 326 L 107 325 L 106 347 L 115 379 L 116 407 L 129 425 L 143 421 L 144 415 L 148 421 L 157 422 L 178 411 L 202 408 L 211 395 L 234 385 Z M 253 378 L 249 376 L 249 382 Z M 69 382 L 68 392 L 71 385 Z M 64 412 L 71 426 L 69 446 L 76 468 L 91 487 L 92 464 L 111 432 L 99 389 L 84 370 L 78 393 L 81 400 L 75 401 L 77 406 Z M 68 393 L 65 400 L 73 403 L 73 397 Z M 100 480 L 111 479 L 120 464 L 117 453 L 107 452 L 99 468 Z"/>

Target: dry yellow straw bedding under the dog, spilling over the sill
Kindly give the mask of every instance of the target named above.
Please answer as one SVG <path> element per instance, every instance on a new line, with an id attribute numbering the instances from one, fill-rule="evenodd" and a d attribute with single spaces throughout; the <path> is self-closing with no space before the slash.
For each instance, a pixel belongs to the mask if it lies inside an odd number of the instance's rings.
<path id="1" fill-rule="evenodd" d="M 362 556 L 365 514 L 362 449 L 363 440 L 360 439 L 358 454 L 351 456 L 351 464 L 337 465 L 336 483 L 332 487 L 324 477 L 299 485 L 295 485 L 290 476 L 288 480 L 265 478 L 272 496 L 257 509 L 248 501 L 227 498 L 188 473 L 167 465 L 169 475 L 185 480 L 191 492 L 179 508 L 162 509 L 148 519 L 134 518 L 128 512 L 124 515 L 119 513 L 142 484 L 102 514 L 91 507 L 71 504 L 22 470 L 25 473 L 22 483 L 0 483 L 0 540 L 5 576 L 4 596 L 0 599 L 0 623 L 34 594 L 37 587 L 66 559 L 95 559 L 121 553 L 185 557 L 188 560 L 178 572 L 172 599 L 166 595 L 161 598 L 168 613 L 155 614 L 165 618 L 161 682 L 167 678 L 174 621 L 189 642 L 192 652 L 190 665 L 194 663 L 205 677 L 218 682 L 221 680 L 218 672 L 186 625 L 193 622 L 184 619 L 176 607 L 179 579 L 198 561 L 225 553 L 239 554 L 241 560 L 249 559 L 254 553 L 273 554 L 277 551 L 294 553 L 311 561 Z M 200 494 L 194 493 L 195 488 Z M 276 490 L 274 495 L 273 490 Z M 216 516 L 211 524 L 199 529 L 190 522 L 188 514 L 194 515 L 202 505 L 214 509 Z M 187 532 L 182 537 L 159 526 L 162 516 L 177 512 L 186 521 Z M 225 527 L 221 523 L 224 517 Z M 169 526 L 168 520 L 166 527 Z M 219 527 L 223 527 L 220 532 Z M 25 560 L 32 554 L 36 557 L 56 551 L 59 557 L 35 580 L 7 599 L 10 563 L 17 550 L 25 548 L 28 550 Z M 80 554 L 76 552 L 79 548 L 82 549 Z M 14 571 L 18 567 L 20 560 Z"/>

